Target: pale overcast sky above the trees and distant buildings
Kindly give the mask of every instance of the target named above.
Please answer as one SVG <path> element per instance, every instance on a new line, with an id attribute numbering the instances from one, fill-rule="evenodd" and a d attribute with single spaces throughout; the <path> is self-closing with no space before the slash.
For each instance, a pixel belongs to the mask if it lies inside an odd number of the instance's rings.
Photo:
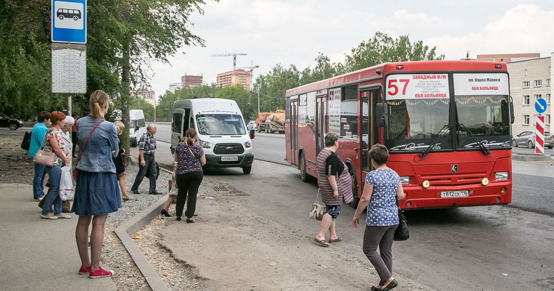
<path id="1" fill-rule="evenodd" d="M 542 1 L 371 1 L 371 0 L 206 0 L 195 13 L 192 33 L 205 47 L 183 47 L 169 64 L 152 63 L 151 86 L 160 96 L 181 76 L 200 75 L 216 81 L 233 70 L 233 57 L 246 53 L 237 68 L 259 65 L 254 81 L 271 67 L 294 64 L 314 67 L 318 53 L 343 62 L 344 54 L 376 32 L 393 38 L 423 40 L 447 60 L 477 54 L 554 52 L 554 0 Z M 524 4 L 522 4 L 524 3 Z M 248 69 L 246 69 L 248 70 Z"/>

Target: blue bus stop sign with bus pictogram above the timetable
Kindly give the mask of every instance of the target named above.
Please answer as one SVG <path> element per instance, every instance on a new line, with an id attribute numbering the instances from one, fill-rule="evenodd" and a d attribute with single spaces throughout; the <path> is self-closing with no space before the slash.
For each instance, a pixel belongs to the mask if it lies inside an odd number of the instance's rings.
<path id="1" fill-rule="evenodd" d="M 52 42 L 86 43 L 86 0 L 52 0 Z"/>

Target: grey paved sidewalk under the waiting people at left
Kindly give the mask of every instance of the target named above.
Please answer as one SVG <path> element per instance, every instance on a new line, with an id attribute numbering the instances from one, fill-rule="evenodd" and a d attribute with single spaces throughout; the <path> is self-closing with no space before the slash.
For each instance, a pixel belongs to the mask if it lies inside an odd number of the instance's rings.
<path id="1" fill-rule="evenodd" d="M 32 185 L 0 184 L 0 289 L 117 290 L 110 277 L 89 279 L 88 274 L 78 274 L 78 216 L 40 218 L 32 192 Z"/>

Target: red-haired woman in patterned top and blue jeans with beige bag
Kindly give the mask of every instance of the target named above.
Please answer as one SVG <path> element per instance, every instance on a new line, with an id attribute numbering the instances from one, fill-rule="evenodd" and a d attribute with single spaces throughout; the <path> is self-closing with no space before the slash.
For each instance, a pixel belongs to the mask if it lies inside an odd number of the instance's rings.
<path id="1" fill-rule="evenodd" d="M 42 212 L 40 217 L 45 219 L 58 219 L 58 218 L 71 218 L 71 216 L 61 213 L 61 199 L 58 195 L 60 188 L 61 167 L 66 166 L 71 161 L 71 155 L 65 151 L 65 140 L 60 133 L 61 127 L 65 124 L 65 114 L 60 111 L 54 111 L 50 113 L 50 121 L 52 127 L 46 132 L 44 136 L 45 147 L 52 148 L 52 152 L 56 154 L 54 160 L 54 166 L 45 166 L 45 170 L 48 172 L 50 179 L 50 191 L 42 206 Z M 54 205 L 54 215 L 50 214 L 50 208 Z"/>

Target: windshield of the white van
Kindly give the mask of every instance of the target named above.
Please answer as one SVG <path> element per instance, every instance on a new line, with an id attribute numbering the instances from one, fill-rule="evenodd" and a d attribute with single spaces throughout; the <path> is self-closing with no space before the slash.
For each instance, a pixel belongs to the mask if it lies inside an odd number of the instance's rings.
<path id="1" fill-rule="evenodd" d="M 237 114 L 198 114 L 198 133 L 203 135 L 244 135 L 244 121 Z"/>

